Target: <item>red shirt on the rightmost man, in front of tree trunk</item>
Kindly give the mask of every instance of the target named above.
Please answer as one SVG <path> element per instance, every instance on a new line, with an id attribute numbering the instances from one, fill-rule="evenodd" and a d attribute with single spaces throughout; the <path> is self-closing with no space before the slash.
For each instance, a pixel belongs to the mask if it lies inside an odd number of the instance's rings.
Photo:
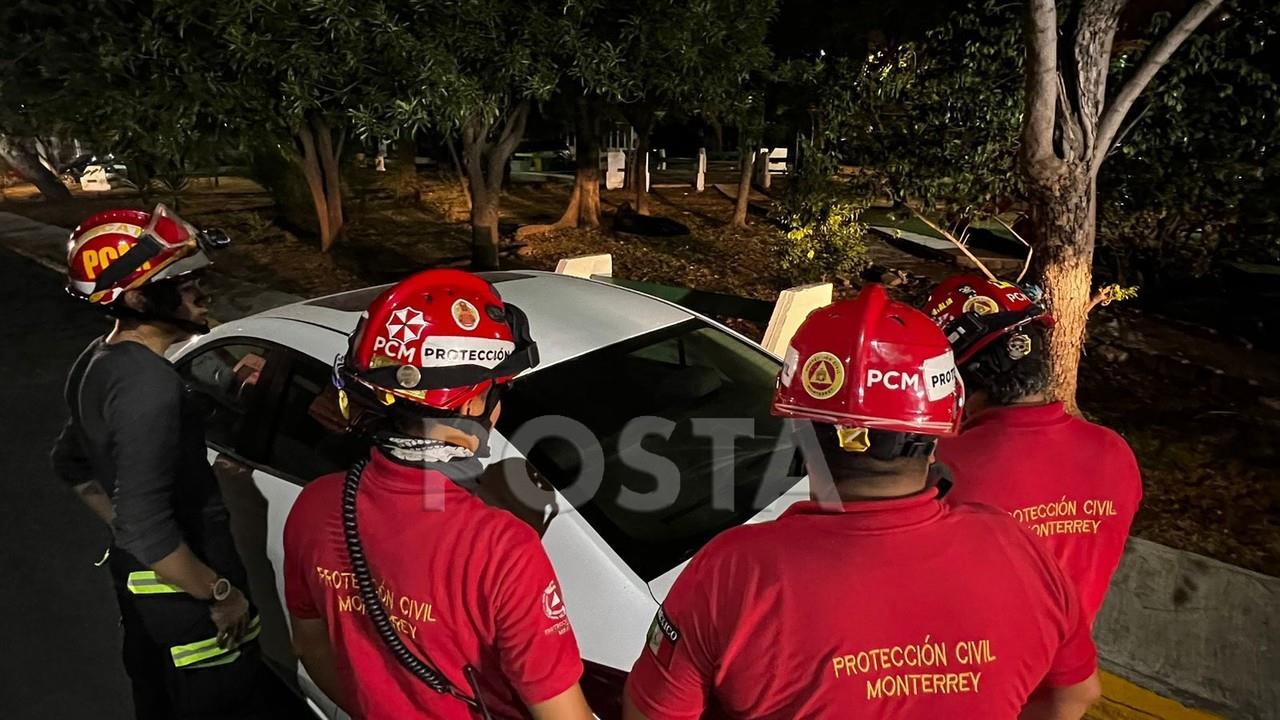
<path id="1" fill-rule="evenodd" d="M 1061 402 L 995 407 L 938 442 L 955 475 L 948 502 L 993 505 L 1036 532 L 1098 614 L 1142 501 L 1133 451 Z"/>

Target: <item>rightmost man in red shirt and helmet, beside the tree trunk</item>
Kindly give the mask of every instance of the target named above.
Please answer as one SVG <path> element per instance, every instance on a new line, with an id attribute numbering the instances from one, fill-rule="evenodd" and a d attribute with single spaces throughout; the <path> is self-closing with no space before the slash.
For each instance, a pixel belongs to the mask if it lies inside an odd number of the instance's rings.
<path id="1" fill-rule="evenodd" d="M 947 500 L 992 505 L 1029 527 L 1075 583 L 1092 625 L 1142 501 L 1133 451 L 1051 401 L 1052 319 L 1021 288 L 957 275 L 938 284 L 928 310 L 968 393 L 960 436 L 938 442 L 955 483 Z"/>

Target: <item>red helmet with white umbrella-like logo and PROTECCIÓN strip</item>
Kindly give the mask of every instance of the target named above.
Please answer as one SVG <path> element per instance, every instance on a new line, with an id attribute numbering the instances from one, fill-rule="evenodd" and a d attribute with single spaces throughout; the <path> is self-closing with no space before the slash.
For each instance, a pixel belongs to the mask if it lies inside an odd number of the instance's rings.
<path id="1" fill-rule="evenodd" d="M 374 300 L 338 359 L 334 382 L 381 405 L 401 398 L 457 410 L 536 364 L 525 314 L 493 284 L 462 270 L 425 270 Z"/>

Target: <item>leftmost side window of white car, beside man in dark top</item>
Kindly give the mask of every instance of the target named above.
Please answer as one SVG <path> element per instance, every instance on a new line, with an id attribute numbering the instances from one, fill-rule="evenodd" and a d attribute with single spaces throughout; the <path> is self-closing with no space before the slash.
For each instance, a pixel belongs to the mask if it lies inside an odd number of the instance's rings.
<path id="1" fill-rule="evenodd" d="M 178 365 L 187 386 L 201 400 L 205 438 L 210 445 L 236 448 L 246 413 L 257 397 L 266 357 L 268 351 L 261 346 L 219 345 Z"/>

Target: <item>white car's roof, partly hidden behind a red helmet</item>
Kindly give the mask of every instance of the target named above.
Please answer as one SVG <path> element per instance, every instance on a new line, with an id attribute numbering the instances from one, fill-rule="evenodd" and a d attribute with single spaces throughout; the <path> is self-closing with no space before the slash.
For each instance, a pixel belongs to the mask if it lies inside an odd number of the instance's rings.
<path id="1" fill-rule="evenodd" d="M 529 315 L 541 365 L 671 327 L 696 315 L 657 297 L 605 282 L 538 270 L 479 273 L 503 300 Z M 255 319 L 287 319 L 349 334 L 361 313 L 390 286 L 367 287 L 266 310 Z"/>

